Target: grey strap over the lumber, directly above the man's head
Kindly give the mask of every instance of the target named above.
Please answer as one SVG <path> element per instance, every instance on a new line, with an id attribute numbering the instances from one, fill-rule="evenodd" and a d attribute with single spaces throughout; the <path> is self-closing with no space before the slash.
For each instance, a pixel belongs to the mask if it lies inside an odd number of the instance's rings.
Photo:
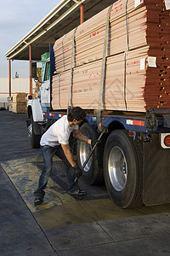
<path id="1" fill-rule="evenodd" d="M 71 72 L 70 72 L 70 83 L 69 83 L 69 94 L 68 94 L 68 103 L 67 103 L 67 114 L 69 113 L 70 108 L 72 108 L 72 82 L 73 82 L 73 57 L 76 49 L 75 34 L 77 27 L 74 29 L 72 37 L 72 50 L 71 50 Z"/>

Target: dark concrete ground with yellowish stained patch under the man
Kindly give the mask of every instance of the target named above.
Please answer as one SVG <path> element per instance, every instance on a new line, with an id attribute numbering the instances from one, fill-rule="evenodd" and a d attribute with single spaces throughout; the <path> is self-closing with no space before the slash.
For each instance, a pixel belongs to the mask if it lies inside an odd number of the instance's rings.
<path id="1" fill-rule="evenodd" d="M 65 166 L 54 159 L 46 196 L 33 204 L 42 169 L 26 114 L 0 111 L 0 255 L 170 255 L 170 204 L 121 209 L 105 185 L 77 200 L 66 193 Z"/>

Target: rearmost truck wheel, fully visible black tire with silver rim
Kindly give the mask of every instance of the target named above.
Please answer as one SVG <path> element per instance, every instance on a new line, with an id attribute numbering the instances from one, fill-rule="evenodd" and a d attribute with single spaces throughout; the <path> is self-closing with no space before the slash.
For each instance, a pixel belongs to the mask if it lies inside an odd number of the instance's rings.
<path id="1" fill-rule="evenodd" d="M 105 185 L 111 199 L 122 208 L 142 202 L 142 143 L 127 131 L 112 131 L 105 144 Z"/>

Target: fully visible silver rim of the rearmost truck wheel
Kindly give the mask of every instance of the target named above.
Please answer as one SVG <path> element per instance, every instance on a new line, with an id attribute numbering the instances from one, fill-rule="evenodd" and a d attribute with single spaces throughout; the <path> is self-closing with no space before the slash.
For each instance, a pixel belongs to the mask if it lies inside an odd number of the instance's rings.
<path id="1" fill-rule="evenodd" d="M 111 149 L 108 160 L 111 184 L 117 191 L 122 191 L 127 183 L 127 160 L 119 147 Z"/>

